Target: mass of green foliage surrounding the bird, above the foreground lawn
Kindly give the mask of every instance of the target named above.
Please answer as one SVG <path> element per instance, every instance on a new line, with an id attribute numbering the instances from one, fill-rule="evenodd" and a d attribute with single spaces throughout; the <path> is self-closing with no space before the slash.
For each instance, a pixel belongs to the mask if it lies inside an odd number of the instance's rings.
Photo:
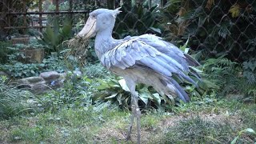
<path id="1" fill-rule="evenodd" d="M 35 2 L 36 3 L 36 2 Z M 69 2 L 62 2 L 60 10 L 69 10 Z M 117 6 L 119 3 L 116 4 Z M 94 10 L 107 7 L 101 2 L 74 2 L 73 10 Z M 255 1 L 186 1 L 169 0 L 164 6 L 149 6 L 148 1 L 124 1 L 122 13 L 114 27 L 114 38 L 128 35 L 157 34 L 190 54 L 202 66 L 202 82 L 199 89 L 183 86 L 192 101 L 213 102 L 215 97 L 242 95 L 238 99 L 254 102 L 256 98 L 255 66 Z M 54 11 L 54 4 L 44 7 Z M 65 41 L 82 29 L 88 14 L 47 16 L 48 26 L 42 34 L 36 34 L 36 42 L 14 45 L 1 42 L 0 70 L 11 78 L 37 76 L 44 71 L 64 73 L 81 70 L 77 77 L 67 73 L 64 87 L 32 98 L 42 111 L 58 112 L 62 109 L 96 106 L 96 109 L 118 106 L 130 107 L 130 93 L 122 78 L 110 74 L 100 63 L 94 52 L 94 40 L 82 50 L 70 50 Z M 41 38 L 40 38 L 41 37 Z M 186 43 L 188 42 L 188 43 Z M 186 44 L 185 44 L 186 43 Z M 185 45 L 184 45 L 185 44 Z M 26 47 L 45 50 L 42 63 L 20 62 Z M 78 69 L 80 68 L 80 69 Z M 138 85 L 139 105 L 142 109 L 175 110 L 182 104 L 177 99 L 161 97 L 150 86 Z M 23 101 L 23 100 L 20 100 Z"/>

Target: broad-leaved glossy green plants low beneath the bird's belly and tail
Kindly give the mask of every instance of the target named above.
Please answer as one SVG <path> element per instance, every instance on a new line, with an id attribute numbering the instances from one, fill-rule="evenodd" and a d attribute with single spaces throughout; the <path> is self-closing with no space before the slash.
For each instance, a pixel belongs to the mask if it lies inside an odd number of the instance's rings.
<path id="1" fill-rule="evenodd" d="M 98 85 L 93 85 L 94 81 L 98 82 Z M 94 81 L 89 82 L 94 88 L 89 88 L 91 91 L 91 98 L 94 103 L 111 102 L 123 108 L 129 108 L 130 105 L 130 91 L 126 86 L 126 82 L 122 78 L 109 77 L 105 79 L 96 78 Z M 184 89 L 190 95 L 192 99 L 202 98 L 204 94 L 207 94 L 211 89 L 215 88 L 214 84 L 203 80 L 199 82 L 199 88 L 194 86 L 184 86 Z M 181 84 L 182 85 L 182 84 Z M 183 86 L 183 85 L 182 85 Z M 138 91 L 138 97 L 140 99 L 139 105 L 141 108 L 154 107 L 158 110 L 172 109 L 175 104 L 174 98 L 167 97 L 166 95 L 158 94 L 152 86 L 146 86 L 144 84 L 138 84 L 136 86 Z"/>

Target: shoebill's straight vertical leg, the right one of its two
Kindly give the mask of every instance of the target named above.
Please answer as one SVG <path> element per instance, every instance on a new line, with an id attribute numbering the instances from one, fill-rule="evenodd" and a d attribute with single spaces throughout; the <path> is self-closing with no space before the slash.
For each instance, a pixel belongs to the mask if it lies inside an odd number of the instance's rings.
<path id="1" fill-rule="evenodd" d="M 138 144 L 141 142 L 141 110 L 138 107 L 138 93 L 134 95 L 135 115 L 137 118 Z"/>

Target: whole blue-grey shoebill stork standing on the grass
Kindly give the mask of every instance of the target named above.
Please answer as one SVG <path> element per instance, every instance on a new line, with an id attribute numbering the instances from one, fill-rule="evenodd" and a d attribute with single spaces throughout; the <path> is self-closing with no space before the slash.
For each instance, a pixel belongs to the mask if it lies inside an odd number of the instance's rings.
<path id="1" fill-rule="evenodd" d="M 112 38 L 115 18 L 121 11 L 98 9 L 90 13 L 86 25 L 76 35 L 80 38 L 95 38 L 94 48 L 98 59 L 106 69 L 122 76 L 131 93 L 132 114 L 126 139 L 130 139 L 134 118 L 137 118 L 138 143 L 140 143 L 140 115 L 138 107 L 137 83 L 153 86 L 159 94 L 178 96 L 183 102 L 190 98 L 179 86 L 179 82 L 197 85 L 189 74 L 198 78 L 190 66 L 198 62 L 184 54 L 178 47 L 153 34 Z"/>

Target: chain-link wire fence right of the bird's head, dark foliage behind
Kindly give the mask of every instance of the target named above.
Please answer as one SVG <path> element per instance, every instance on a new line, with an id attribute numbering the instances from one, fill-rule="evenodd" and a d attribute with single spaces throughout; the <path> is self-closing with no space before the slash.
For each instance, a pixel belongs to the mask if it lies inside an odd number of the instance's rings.
<path id="1" fill-rule="evenodd" d="M 122 6 L 115 33 L 157 34 L 181 46 L 187 40 L 198 57 L 226 56 L 243 62 L 256 56 L 256 1 L 169 0 L 149 8 L 145 3 Z"/>

